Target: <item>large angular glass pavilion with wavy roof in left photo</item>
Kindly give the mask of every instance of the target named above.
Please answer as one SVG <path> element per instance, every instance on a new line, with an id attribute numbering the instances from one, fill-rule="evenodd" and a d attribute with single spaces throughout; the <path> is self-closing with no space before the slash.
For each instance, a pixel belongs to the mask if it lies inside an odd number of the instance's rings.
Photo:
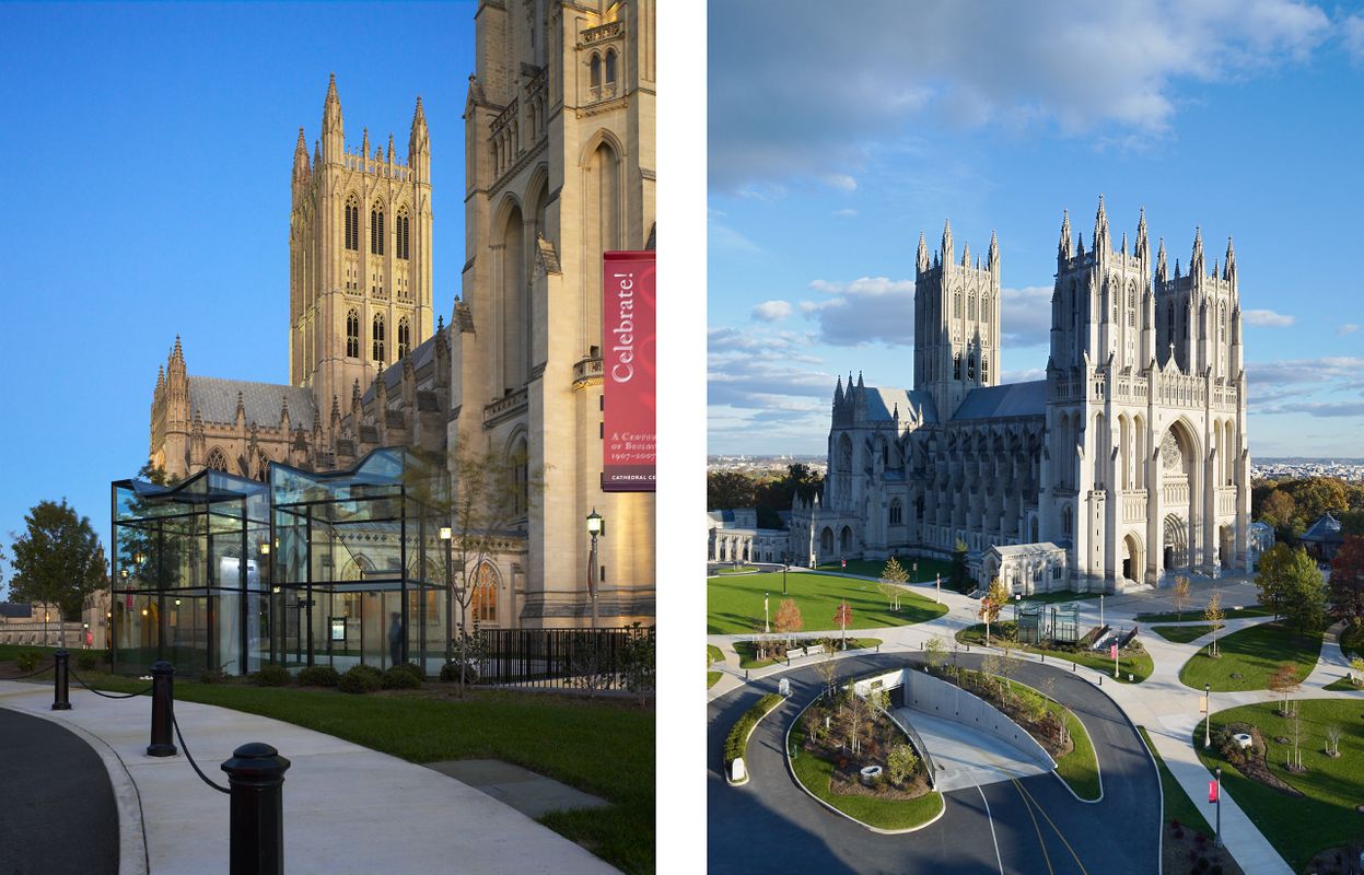
<path id="1" fill-rule="evenodd" d="M 115 669 L 445 661 L 446 541 L 401 448 L 353 469 L 207 469 L 176 487 L 113 482 Z"/>

